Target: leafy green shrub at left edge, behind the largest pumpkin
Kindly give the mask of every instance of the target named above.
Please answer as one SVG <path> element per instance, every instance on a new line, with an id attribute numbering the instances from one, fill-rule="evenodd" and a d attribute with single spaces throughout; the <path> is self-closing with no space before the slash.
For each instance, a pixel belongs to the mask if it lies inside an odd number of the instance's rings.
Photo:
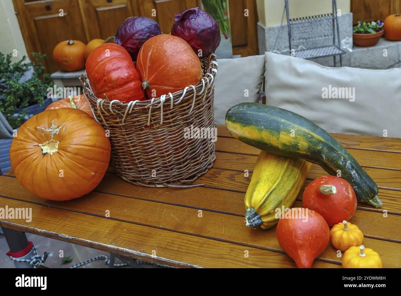
<path id="1" fill-rule="evenodd" d="M 22 124 L 22 118 L 27 115 L 27 109 L 14 116 L 16 108 L 24 108 L 36 103 L 43 106 L 47 98 L 47 88 L 53 88 L 49 73 L 45 73 L 42 64 L 45 55 L 32 53 L 36 61 L 26 62 L 26 56 L 16 63 L 11 63 L 11 54 L 0 53 L 0 111 L 6 117 L 12 128 Z M 24 73 L 33 67 L 32 77 L 20 82 Z"/>

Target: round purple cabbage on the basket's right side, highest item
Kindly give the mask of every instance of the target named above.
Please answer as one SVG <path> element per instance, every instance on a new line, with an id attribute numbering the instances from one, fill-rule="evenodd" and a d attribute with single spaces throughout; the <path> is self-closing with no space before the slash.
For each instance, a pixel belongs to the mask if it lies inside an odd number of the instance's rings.
<path id="1" fill-rule="evenodd" d="M 219 24 L 199 7 L 176 14 L 174 21 L 171 35 L 184 39 L 198 57 L 207 57 L 219 46 Z"/>

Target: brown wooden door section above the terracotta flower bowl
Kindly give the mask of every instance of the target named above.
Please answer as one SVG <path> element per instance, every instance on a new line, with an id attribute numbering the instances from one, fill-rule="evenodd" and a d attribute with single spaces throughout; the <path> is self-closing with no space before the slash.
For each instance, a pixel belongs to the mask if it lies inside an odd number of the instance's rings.
<path id="1" fill-rule="evenodd" d="M 354 24 L 384 20 L 389 14 L 401 13 L 401 0 L 351 0 L 351 12 Z"/>

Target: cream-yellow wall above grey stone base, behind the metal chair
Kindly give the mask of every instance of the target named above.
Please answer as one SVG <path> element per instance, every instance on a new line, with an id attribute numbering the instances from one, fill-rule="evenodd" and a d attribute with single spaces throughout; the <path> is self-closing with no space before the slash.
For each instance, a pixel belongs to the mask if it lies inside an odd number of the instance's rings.
<path id="1" fill-rule="evenodd" d="M 284 0 L 256 0 L 259 22 L 267 27 L 280 24 L 284 9 Z M 330 0 L 289 0 L 290 18 L 310 16 L 332 11 Z M 350 0 L 337 0 L 337 9 L 341 14 L 350 12 Z M 286 16 L 284 15 L 284 23 Z"/>

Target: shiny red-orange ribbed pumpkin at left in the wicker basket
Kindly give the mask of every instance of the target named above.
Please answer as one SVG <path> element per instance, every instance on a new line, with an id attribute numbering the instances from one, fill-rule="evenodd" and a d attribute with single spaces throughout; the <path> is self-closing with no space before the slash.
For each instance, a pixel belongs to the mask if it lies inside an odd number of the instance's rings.
<path id="1" fill-rule="evenodd" d="M 86 60 L 86 73 L 97 98 L 130 102 L 146 100 L 130 54 L 115 43 L 96 47 Z"/>

